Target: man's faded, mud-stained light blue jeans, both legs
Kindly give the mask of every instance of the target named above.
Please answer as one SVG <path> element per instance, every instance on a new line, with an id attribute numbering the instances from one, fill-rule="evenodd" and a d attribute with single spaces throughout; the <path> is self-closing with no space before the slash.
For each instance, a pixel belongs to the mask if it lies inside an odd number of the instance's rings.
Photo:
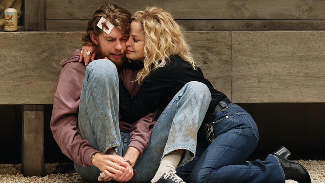
<path id="1" fill-rule="evenodd" d="M 126 152 L 129 134 L 118 125 L 118 74 L 108 60 L 91 62 L 86 69 L 79 107 L 78 130 L 91 146 L 105 153 L 115 148 Z M 149 182 L 161 158 L 178 149 L 186 150 L 179 165 L 195 156 L 197 132 L 211 101 L 208 87 L 200 82 L 187 83 L 171 100 L 158 118 L 147 149 L 134 166 L 132 182 Z M 75 164 L 76 171 L 89 182 L 96 182 L 99 169 Z"/>

